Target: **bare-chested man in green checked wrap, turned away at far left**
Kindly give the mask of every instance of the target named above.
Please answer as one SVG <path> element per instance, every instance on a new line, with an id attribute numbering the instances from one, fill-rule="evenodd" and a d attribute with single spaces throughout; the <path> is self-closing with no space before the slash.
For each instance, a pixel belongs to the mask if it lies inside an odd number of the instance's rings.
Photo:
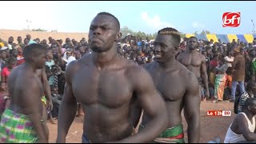
<path id="1" fill-rule="evenodd" d="M 8 78 L 10 107 L 2 114 L 0 138 L 2 142 L 47 142 L 42 118 L 43 86 L 36 74 L 46 62 L 46 49 L 31 44 L 24 49 L 26 62 L 16 67 Z"/>

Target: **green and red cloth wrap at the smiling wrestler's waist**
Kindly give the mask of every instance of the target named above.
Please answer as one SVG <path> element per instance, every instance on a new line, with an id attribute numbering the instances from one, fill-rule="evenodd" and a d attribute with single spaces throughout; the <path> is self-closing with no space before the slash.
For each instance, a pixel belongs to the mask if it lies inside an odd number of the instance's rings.
<path id="1" fill-rule="evenodd" d="M 143 127 L 141 125 L 140 129 Z M 167 128 L 158 138 L 154 138 L 154 142 L 150 143 L 185 143 L 182 124 Z"/>

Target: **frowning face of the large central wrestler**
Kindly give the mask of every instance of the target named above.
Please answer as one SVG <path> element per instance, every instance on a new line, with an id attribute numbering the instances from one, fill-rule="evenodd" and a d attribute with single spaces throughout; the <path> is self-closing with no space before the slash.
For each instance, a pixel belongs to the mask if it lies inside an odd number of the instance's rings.
<path id="1" fill-rule="evenodd" d="M 90 24 L 89 45 L 94 52 L 106 52 L 115 47 L 118 28 L 114 18 L 100 14 Z"/>

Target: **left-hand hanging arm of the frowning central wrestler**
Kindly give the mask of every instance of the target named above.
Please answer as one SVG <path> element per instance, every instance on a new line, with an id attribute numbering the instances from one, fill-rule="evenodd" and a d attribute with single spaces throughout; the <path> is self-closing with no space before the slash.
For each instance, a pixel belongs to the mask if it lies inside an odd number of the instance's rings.
<path id="1" fill-rule="evenodd" d="M 58 138 L 57 143 L 66 142 L 66 134 L 74 121 L 75 113 L 77 110 L 77 102 L 74 98 L 71 77 L 74 70 L 74 62 L 66 68 L 66 85 L 64 95 L 62 98 L 62 105 L 58 112 Z"/>

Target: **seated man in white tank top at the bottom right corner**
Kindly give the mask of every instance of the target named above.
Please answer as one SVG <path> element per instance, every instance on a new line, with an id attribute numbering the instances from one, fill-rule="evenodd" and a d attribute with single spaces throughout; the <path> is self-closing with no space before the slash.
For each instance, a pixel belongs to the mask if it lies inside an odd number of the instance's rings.
<path id="1" fill-rule="evenodd" d="M 230 124 L 224 143 L 256 143 L 255 114 L 256 98 L 247 98 L 242 113 Z"/>

